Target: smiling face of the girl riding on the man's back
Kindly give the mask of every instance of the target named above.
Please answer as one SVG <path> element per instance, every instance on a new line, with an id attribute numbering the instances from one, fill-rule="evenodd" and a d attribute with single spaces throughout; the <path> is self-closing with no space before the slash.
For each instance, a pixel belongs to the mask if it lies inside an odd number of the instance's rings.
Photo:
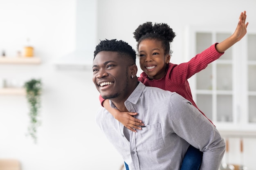
<path id="1" fill-rule="evenodd" d="M 160 79 L 166 72 L 166 64 L 170 55 L 164 55 L 162 42 L 158 40 L 143 40 L 138 46 L 139 65 L 149 79 Z"/>

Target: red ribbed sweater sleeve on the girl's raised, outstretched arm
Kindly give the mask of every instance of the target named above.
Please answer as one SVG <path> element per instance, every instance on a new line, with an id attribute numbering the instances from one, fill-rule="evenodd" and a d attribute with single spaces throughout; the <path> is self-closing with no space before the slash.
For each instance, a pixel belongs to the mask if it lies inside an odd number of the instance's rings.
<path id="1" fill-rule="evenodd" d="M 208 49 L 202 51 L 202 53 L 195 55 L 195 57 L 189 60 L 189 62 L 184 62 L 175 66 L 168 74 L 171 75 L 172 73 L 172 76 L 169 78 L 174 78 L 175 82 L 182 84 L 195 73 L 198 73 L 206 68 L 208 64 L 220 58 L 220 56 L 224 53 L 219 53 L 216 50 L 216 44 L 211 45 Z"/>

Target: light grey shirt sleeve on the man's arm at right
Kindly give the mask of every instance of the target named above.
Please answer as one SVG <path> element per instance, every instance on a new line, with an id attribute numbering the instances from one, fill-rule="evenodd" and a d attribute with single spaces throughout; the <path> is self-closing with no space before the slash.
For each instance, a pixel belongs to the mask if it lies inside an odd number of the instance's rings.
<path id="1" fill-rule="evenodd" d="M 174 113 L 171 110 L 175 110 Z M 218 170 L 225 152 L 225 141 L 215 126 L 177 93 L 171 95 L 170 112 L 173 131 L 203 152 L 200 170 Z"/>

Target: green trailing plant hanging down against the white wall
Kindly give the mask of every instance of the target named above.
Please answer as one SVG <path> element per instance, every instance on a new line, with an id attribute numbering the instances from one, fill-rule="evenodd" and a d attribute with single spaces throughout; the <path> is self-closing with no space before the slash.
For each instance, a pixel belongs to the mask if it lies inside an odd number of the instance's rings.
<path id="1" fill-rule="evenodd" d="M 40 95 L 42 91 L 42 83 L 40 79 L 31 79 L 25 82 L 24 87 L 26 89 L 27 102 L 29 104 L 29 127 L 28 135 L 32 137 L 34 143 L 37 142 L 37 128 L 40 126 L 38 120 L 39 108 L 40 108 Z"/>

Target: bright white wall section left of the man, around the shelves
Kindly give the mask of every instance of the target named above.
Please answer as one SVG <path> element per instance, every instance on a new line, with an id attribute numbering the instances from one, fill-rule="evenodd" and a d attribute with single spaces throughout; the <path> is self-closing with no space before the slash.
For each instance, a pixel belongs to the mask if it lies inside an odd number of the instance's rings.
<path id="1" fill-rule="evenodd" d="M 121 158 L 95 124 L 99 93 L 91 69 L 63 70 L 53 64 L 75 49 L 76 1 L 0 0 L 0 7 L 0 51 L 16 56 L 29 37 L 35 55 L 42 59 L 36 66 L 0 64 L 0 79 L 43 81 L 36 145 L 25 136 L 25 96 L 0 95 L 0 158 L 20 160 L 22 170 L 99 170 L 104 164 L 119 168 Z M 117 161 L 104 159 L 106 153 Z"/>

